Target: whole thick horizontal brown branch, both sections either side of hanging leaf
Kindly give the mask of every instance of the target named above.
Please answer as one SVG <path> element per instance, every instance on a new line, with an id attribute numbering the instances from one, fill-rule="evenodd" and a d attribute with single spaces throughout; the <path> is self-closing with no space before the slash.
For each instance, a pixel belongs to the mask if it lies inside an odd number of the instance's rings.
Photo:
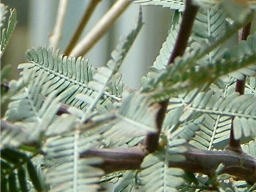
<path id="1" fill-rule="evenodd" d="M 214 174 L 220 163 L 224 164 L 223 173 L 234 175 L 249 182 L 256 182 L 256 159 L 242 152 L 231 150 L 209 151 L 186 146 L 182 153 L 186 157 L 183 162 L 170 162 L 169 166 L 182 168 L 188 172 Z M 97 165 L 106 173 L 120 170 L 140 168 L 143 158 L 147 155 L 142 145 L 133 148 L 91 149 L 81 154 L 82 158 L 97 156 L 104 163 Z"/>

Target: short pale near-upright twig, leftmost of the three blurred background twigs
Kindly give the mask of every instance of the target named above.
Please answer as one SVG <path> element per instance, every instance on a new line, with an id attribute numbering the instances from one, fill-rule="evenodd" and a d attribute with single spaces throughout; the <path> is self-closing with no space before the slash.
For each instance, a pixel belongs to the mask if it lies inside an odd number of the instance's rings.
<path id="1" fill-rule="evenodd" d="M 49 44 L 54 50 L 58 48 L 58 44 L 60 42 L 61 30 L 64 23 L 64 18 L 66 16 L 67 6 L 68 6 L 68 0 L 60 0 L 58 13 L 56 17 L 56 23 L 55 23 L 53 32 L 49 38 Z"/>

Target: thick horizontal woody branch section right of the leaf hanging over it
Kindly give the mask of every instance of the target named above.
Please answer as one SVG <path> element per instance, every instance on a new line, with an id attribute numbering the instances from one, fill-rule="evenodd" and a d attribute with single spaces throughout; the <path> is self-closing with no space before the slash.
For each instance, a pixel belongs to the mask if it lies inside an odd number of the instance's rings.
<path id="1" fill-rule="evenodd" d="M 256 182 L 256 159 L 244 152 L 209 151 L 188 147 L 188 152 L 185 152 L 184 156 L 186 157 L 184 162 L 171 162 L 170 166 L 179 167 L 189 172 L 211 175 L 222 163 L 225 166 L 223 173 L 249 182 Z"/>

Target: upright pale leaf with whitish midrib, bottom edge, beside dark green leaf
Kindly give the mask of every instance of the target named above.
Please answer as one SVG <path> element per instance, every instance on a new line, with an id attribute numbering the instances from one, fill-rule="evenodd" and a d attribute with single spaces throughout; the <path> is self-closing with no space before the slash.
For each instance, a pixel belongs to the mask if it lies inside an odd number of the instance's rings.
<path id="1" fill-rule="evenodd" d="M 46 181 L 52 191 L 97 191 L 97 183 L 104 172 L 92 165 L 100 164 L 102 160 L 80 158 L 80 153 L 91 148 L 98 139 L 98 135 L 84 138 L 76 130 L 47 141 L 44 151 L 50 168 L 46 173 Z"/>

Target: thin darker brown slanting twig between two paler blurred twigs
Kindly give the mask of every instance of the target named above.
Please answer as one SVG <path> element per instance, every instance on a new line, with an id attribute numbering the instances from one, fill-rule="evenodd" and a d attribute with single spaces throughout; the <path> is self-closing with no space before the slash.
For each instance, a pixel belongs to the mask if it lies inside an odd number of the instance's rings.
<path id="1" fill-rule="evenodd" d="M 84 16 L 82 17 L 81 21 L 78 24 L 78 27 L 76 28 L 75 33 L 72 36 L 71 41 L 68 44 L 68 47 L 66 48 L 64 54 L 69 55 L 76 43 L 78 42 L 86 24 L 88 23 L 90 17 L 92 16 L 92 13 L 94 12 L 95 8 L 97 7 L 98 3 L 101 0 L 91 0 L 84 12 Z"/>

